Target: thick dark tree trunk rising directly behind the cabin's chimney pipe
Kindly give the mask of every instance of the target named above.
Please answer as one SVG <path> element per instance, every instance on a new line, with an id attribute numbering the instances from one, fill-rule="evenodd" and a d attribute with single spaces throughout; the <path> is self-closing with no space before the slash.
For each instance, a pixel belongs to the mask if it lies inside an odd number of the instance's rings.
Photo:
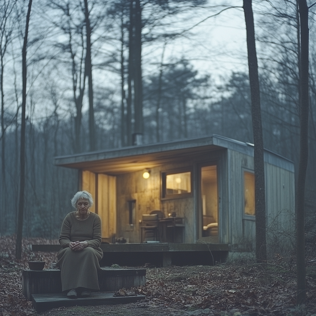
<path id="1" fill-rule="evenodd" d="M 143 83 L 142 83 L 142 9 L 140 0 L 135 1 L 135 77 L 134 77 L 134 133 L 143 136 Z M 137 143 L 139 144 L 139 143 Z"/>

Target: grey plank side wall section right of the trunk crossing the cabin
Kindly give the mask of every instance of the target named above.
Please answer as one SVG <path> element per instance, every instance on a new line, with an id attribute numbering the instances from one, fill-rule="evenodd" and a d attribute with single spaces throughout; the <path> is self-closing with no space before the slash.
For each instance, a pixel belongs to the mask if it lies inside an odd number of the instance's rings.
<path id="1" fill-rule="evenodd" d="M 294 246 L 294 172 L 265 164 L 268 252 L 284 253 Z"/>

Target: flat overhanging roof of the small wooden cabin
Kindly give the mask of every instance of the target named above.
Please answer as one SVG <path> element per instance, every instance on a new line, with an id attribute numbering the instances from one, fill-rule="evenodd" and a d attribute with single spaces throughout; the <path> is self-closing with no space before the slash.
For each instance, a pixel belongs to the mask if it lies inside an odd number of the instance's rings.
<path id="1" fill-rule="evenodd" d="M 54 164 L 97 173 L 119 174 L 174 162 L 175 157 L 179 163 L 192 161 L 203 154 L 222 149 L 253 156 L 253 144 L 213 134 L 208 137 L 60 156 L 54 158 Z M 293 161 L 270 150 L 264 151 L 264 160 L 294 172 Z"/>

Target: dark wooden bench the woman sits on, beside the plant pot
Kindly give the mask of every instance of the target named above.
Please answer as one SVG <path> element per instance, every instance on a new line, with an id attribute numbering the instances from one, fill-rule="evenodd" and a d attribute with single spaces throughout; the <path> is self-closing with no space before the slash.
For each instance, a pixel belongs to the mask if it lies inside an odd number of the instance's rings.
<path id="1" fill-rule="evenodd" d="M 145 285 L 146 269 L 135 268 L 101 268 L 98 274 L 101 292 L 115 292 Z M 62 293 L 60 270 L 44 269 L 42 271 L 22 271 L 22 294 L 32 300 L 32 294 Z"/>

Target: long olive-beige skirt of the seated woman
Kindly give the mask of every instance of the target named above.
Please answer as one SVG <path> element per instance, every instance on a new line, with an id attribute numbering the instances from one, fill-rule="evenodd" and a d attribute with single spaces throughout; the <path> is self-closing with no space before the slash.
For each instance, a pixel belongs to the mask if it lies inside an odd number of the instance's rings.
<path id="1" fill-rule="evenodd" d="M 61 270 L 62 290 L 68 291 L 79 287 L 98 291 L 99 261 L 103 257 L 101 248 L 86 247 L 74 251 L 69 247 L 61 249 L 56 266 Z"/>

